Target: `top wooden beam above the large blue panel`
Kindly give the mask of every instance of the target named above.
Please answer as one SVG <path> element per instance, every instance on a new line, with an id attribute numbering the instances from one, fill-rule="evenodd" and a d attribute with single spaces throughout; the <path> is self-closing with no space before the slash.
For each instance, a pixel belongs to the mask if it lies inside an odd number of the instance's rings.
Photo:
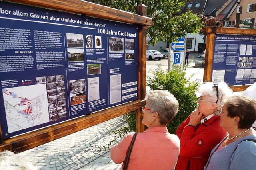
<path id="1" fill-rule="evenodd" d="M 12 2 L 18 2 L 21 4 L 39 6 L 43 8 L 50 8 L 55 10 L 62 10 L 66 12 L 72 12 L 76 14 L 88 15 L 96 18 L 102 18 L 107 20 L 120 21 L 131 24 L 152 26 L 152 18 L 146 16 L 140 16 L 109 8 L 106 6 L 94 4 L 82 0 L 10 0 Z"/>

